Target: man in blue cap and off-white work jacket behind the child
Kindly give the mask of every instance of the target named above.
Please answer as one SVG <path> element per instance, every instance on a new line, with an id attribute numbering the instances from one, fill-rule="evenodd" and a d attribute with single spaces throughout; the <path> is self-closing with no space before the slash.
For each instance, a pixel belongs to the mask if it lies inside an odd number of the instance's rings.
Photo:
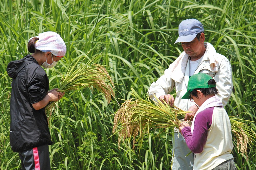
<path id="1" fill-rule="evenodd" d="M 219 90 L 219 98 L 225 106 L 232 93 L 232 70 L 229 60 L 216 52 L 209 42 L 204 42 L 204 28 L 200 21 L 187 19 L 179 25 L 179 37 L 175 43 L 180 42 L 183 52 L 170 64 L 156 82 L 153 82 L 148 90 L 149 97 L 157 101 L 167 102 L 170 106 L 191 111 L 186 114 L 184 120 L 193 120 L 198 106 L 189 99 L 181 100 L 186 93 L 189 77 L 197 73 L 205 73 L 216 81 Z M 176 98 L 169 94 L 175 88 Z M 173 170 L 193 169 L 194 154 L 186 156 L 190 149 L 179 129 L 174 130 L 173 136 Z"/>

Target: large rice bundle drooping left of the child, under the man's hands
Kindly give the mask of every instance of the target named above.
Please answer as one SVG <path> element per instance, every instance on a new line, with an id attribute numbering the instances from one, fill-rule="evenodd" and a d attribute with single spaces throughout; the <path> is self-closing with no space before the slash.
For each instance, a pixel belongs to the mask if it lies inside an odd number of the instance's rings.
<path id="1" fill-rule="evenodd" d="M 135 148 L 136 137 L 140 133 L 141 141 L 145 133 L 152 128 L 179 127 L 180 119 L 184 119 L 185 111 L 179 108 L 168 107 L 165 103 L 151 103 L 143 100 L 132 88 L 135 98 L 125 101 L 117 110 L 114 117 L 113 133 L 118 134 L 118 147 L 121 138 L 133 137 L 133 149 Z M 117 131 L 116 131 L 117 129 Z M 114 135 L 113 134 L 113 135 Z"/>

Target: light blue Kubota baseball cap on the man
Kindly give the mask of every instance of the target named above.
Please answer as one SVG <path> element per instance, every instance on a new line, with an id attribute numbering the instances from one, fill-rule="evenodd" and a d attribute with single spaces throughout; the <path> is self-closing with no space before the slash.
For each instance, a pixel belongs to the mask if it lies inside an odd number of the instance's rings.
<path id="1" fill-rule="evenodd" d="M 196 38 L 198 33 L 203 31 L 203 25 L 200 21 L 194 18 L 183 20 L 179 25 L 179 37 L 174 43 L 191 42 Z"/>

